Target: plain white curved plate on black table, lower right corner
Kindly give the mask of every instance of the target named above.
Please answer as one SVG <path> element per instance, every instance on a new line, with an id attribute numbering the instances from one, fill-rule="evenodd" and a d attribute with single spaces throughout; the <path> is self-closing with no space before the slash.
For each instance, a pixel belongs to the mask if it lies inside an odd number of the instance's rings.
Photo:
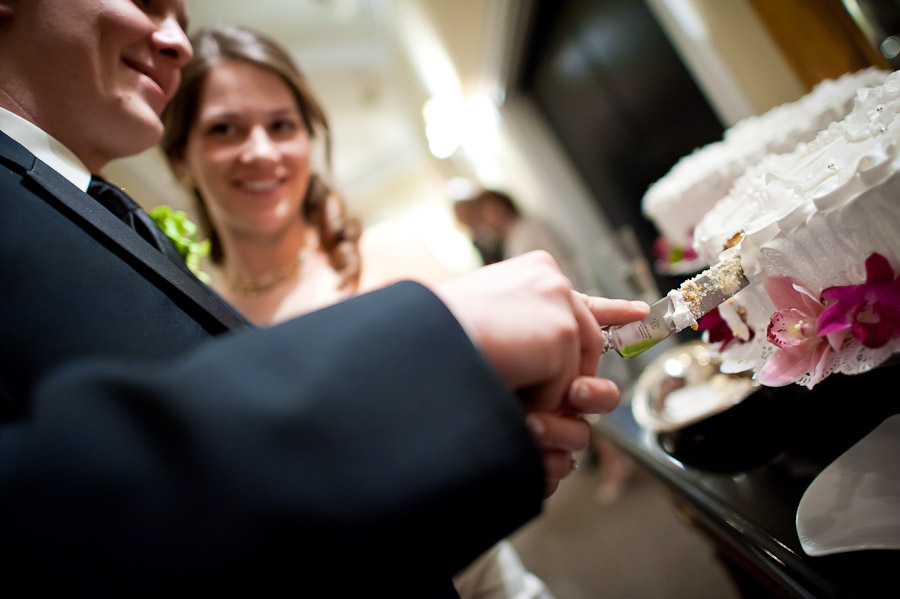
<path id="1" fill-rule="evenodd" d="M 900 549 L 900 414 L 813 480 L 797 508 L 797 534 L 811 556 Z"/>

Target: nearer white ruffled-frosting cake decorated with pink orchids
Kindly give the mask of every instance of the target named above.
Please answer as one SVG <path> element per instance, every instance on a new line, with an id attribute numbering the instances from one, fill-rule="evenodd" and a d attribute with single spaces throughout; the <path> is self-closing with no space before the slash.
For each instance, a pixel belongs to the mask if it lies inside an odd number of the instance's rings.
<path id="1" fill-rule="evenodd" d="M 813 140 L 747 169 L 699 221 L 694 249 L 701 259 L 737 254 L 749 281 L 720 307 L 740 340 L 724 346 L 724 369 L 752 369 L 763 384 L 812 387 L 833 372 L 865 372 L 900 351 L 898 115 L 900 71 L 860 89 L 852 111 Z M 858 305 L 846 311 L 854 328 L 819 334 L 811 322 L 836 297 L 823 291 L 863 289 L 872 282 L 867 260 L 875 254 L 886 259 L 880 276 L 887 272 L 888 282 L 854 296 Z M 873 347 L 855 327 L 879 319 L 887 340 Z M 806 361 L 795 360 L 788 373 L 791 352 Z M 798 363 L 809 371 L 796 371 Z"/>

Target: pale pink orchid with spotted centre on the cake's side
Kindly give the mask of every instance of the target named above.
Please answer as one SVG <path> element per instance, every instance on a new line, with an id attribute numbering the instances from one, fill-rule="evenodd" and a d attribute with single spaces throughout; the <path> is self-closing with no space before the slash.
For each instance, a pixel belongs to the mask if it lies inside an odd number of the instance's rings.
<path id="1" fill-rule="evenodd" d="M 759 381 L 783 387 L 810 374 L 812 387 L 825 378 L 828 358 L 840 349 L 845 335 L 835 332 L 819 336 L 816 320 L 825 306 L 802 283 L 788 277 L 769 277 L 765 287 L 778 309 L 769 322 L 766 338 L 778 349 L 760 370 Z"/>

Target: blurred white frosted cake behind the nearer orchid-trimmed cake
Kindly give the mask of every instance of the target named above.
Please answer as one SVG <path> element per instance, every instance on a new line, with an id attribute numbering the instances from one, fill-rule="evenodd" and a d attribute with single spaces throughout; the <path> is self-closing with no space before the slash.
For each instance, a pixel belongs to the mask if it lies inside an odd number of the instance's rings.
<path id="1" fill-rule="evenodd" d="M 645 216 L 669 243 L 690 247 L 696 224 L 748 167 L 766 155 L 790 152 L 811 141 L 850 111 L 858 89 L 880 85 L 888 74 L 875 68 L 848 73 L 819 83 L 796 102 L 740 121 L 721 140 L 683 157 L 651 185 L 642 200 Z"/>

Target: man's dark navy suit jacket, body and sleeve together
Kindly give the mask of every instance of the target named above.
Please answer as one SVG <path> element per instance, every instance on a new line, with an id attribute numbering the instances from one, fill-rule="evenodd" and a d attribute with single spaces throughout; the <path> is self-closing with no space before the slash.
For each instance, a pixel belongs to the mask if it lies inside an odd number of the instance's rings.
<path id="1" fill-rule="evenodd" d="M 0 284 L 10 596 L 429 596 L 540 509 L 518 402 L 418 285 L 249 327 L 2 133 Z"/>

